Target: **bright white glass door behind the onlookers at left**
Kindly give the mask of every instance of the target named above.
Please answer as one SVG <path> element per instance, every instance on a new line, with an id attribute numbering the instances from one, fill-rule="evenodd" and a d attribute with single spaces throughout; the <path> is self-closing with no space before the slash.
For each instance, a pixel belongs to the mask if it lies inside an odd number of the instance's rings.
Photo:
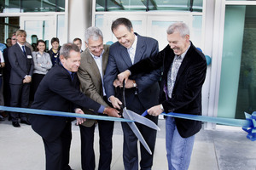
<path id="1" fill-rule="evenodd" d="M 39 39 L 46 42 L 46 50 L 51 48 L 50 40 L 55 37 L 54 16 L 20 16 L 20 29 L 26 31 L 26 41 L 36 48 Z"/>

